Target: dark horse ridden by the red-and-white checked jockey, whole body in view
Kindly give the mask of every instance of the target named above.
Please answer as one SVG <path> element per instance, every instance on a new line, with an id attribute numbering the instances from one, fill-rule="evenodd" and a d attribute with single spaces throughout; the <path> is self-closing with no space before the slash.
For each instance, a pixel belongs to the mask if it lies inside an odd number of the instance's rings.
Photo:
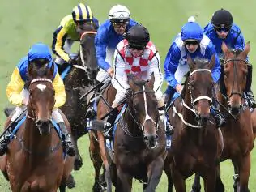
<path id="1" fill-rule="evenodd" d="M 128 75 L 131 96 L 114 136 L 114 158 L 111 166 L 113 184 L 118 192 L 129 192 L 132 178 L 143 181 L 144 191 L 155 191 L 164 168 L 164 121 L 160 120 L 154 87 L 149 82 Z"/>

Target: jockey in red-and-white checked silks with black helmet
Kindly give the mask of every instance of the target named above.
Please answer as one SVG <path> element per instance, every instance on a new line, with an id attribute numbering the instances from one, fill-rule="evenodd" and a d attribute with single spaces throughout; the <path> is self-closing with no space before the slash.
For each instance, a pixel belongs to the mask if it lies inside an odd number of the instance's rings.
<path id="1" fill-rule="evenodd" d="M 117 89 L 117 95 L 113 101 L 113 108 L 126 99 L 129 92 L 129 84 L 127 83 L 127 74 L 133 73 L 147 80 L 151 78 L 152 72 L 155 76 L 154 91 L 156 92 L 156 99 L 158 100 L 158 109 L 160 115 L 166 120 L 165 105 L 162 98 L 161 86 L 163 83 L 163 76 L 160 70 L 160 55 L 156 50 L 155 45 L 150 40 L 147 28 L 142 25 L 134 25 L 126 33 L 126 39 L 117 45 L 114 53 L 114 75 L 112 79 L 113 87 Z M 113 123 L 117 117 L 118 109 L 114 109 L 113 113 L 109 114 L 107 122 L 105 123 L 105 136 L 111 137 L 109 131 L 113 127 Z M 169 123 L 166 122 L 166 134 L 172 134 L 173 129 Z"/>

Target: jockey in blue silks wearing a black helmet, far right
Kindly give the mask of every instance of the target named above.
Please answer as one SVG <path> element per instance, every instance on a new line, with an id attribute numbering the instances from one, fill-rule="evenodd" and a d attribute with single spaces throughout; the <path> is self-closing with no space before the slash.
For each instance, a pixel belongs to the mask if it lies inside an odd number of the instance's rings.
<path id="1" fill-rule="evenodd" d="M 221 49 L 222 42 L 225 42 L 225 44 L 231 49 L 243 50 L 245 48 L 244 36 L 242 35 L 240 28 L 233 23 L 233 16 L 227 10 L 220 9 L 215 11 L 212 15 L 211 23 L 208 23 L 204 28 L 204 33 L 210 38 L 212 44 L 215 45 L 216 52 L 221 59 L 224 59 Z M 245 90 L 245 93 L 250 98 L 252 107 L 256 108 L 254 94 L 250 87 L 252 83 L 252 67 L 252 65 L 248 65 L 246 83 L 248 90 Z M 220 77 L 220 81 L 223 81 L 222 75 Z"/>

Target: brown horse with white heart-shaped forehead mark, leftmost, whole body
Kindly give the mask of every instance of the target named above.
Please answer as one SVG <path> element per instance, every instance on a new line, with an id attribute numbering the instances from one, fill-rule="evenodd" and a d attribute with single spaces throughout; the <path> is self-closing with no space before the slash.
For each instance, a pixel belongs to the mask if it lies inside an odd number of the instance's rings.
<path id="1" fill-rule="evenodd" d="M 65 192 L 66 181 L 73 169 L 74 158 L 63 156 L 62 141 L 53 128 L 51 115 L 54 100 L 54 65 L 37 75 L 32 66 L 28 68 L 29 84 L 28 113 L 8 152 L 0 159 L 2 173 L 10 181 L 14 192 L 53 192 L 58 187 Z M 66 120 L 66 118 L 64 117 Z M 7 119 L 6 126 L 11 117 Z M 66 126 L 70 130 L 67 121 Z"/>

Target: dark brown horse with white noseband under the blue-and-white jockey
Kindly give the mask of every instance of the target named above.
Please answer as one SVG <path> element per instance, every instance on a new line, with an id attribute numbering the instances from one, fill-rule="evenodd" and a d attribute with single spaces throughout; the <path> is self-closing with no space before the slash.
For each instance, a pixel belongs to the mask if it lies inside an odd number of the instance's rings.
<path id="1" fill-rule="evenodd" d="M 181 92 L 168 110 L 174 126 L 172 147 L 164 162 L 164 171 L 169 180 L 168 191 L 186 192 L 186 178 L 198 173 L 204 179 L 205 191 L 215 191 L 216 162 L 220 160 L 220 133 L 211 116 L 213 92 L 211 62 L 188 57 L 190 75 Z"/>

